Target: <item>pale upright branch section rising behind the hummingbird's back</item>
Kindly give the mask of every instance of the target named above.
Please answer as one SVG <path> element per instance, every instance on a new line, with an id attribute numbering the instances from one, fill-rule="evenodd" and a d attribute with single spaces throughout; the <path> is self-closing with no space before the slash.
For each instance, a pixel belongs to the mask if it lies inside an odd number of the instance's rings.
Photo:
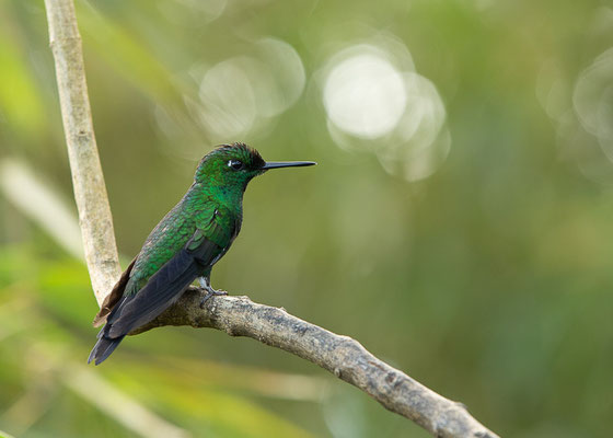
<path id="1" fill-rule="evenodd" d="M 85 261 L 100 306 L 122 269 L 94 137 L 81 36 L 72 0 L 45 0 L 45 7 Z"/>

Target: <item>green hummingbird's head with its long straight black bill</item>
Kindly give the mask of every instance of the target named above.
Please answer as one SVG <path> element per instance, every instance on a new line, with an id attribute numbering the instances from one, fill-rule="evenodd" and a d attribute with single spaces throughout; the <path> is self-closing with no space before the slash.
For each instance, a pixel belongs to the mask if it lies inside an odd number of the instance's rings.
<path id="1" fill-rule="evenodd" d="M 194 180 L 196 183 L 236 186 L 244 191 L 254 176 L 269 169 L 313 164 L 312 161 L 266 162 L 258 151 L 245 143 L 222 145 L 200 160 Z"/>

